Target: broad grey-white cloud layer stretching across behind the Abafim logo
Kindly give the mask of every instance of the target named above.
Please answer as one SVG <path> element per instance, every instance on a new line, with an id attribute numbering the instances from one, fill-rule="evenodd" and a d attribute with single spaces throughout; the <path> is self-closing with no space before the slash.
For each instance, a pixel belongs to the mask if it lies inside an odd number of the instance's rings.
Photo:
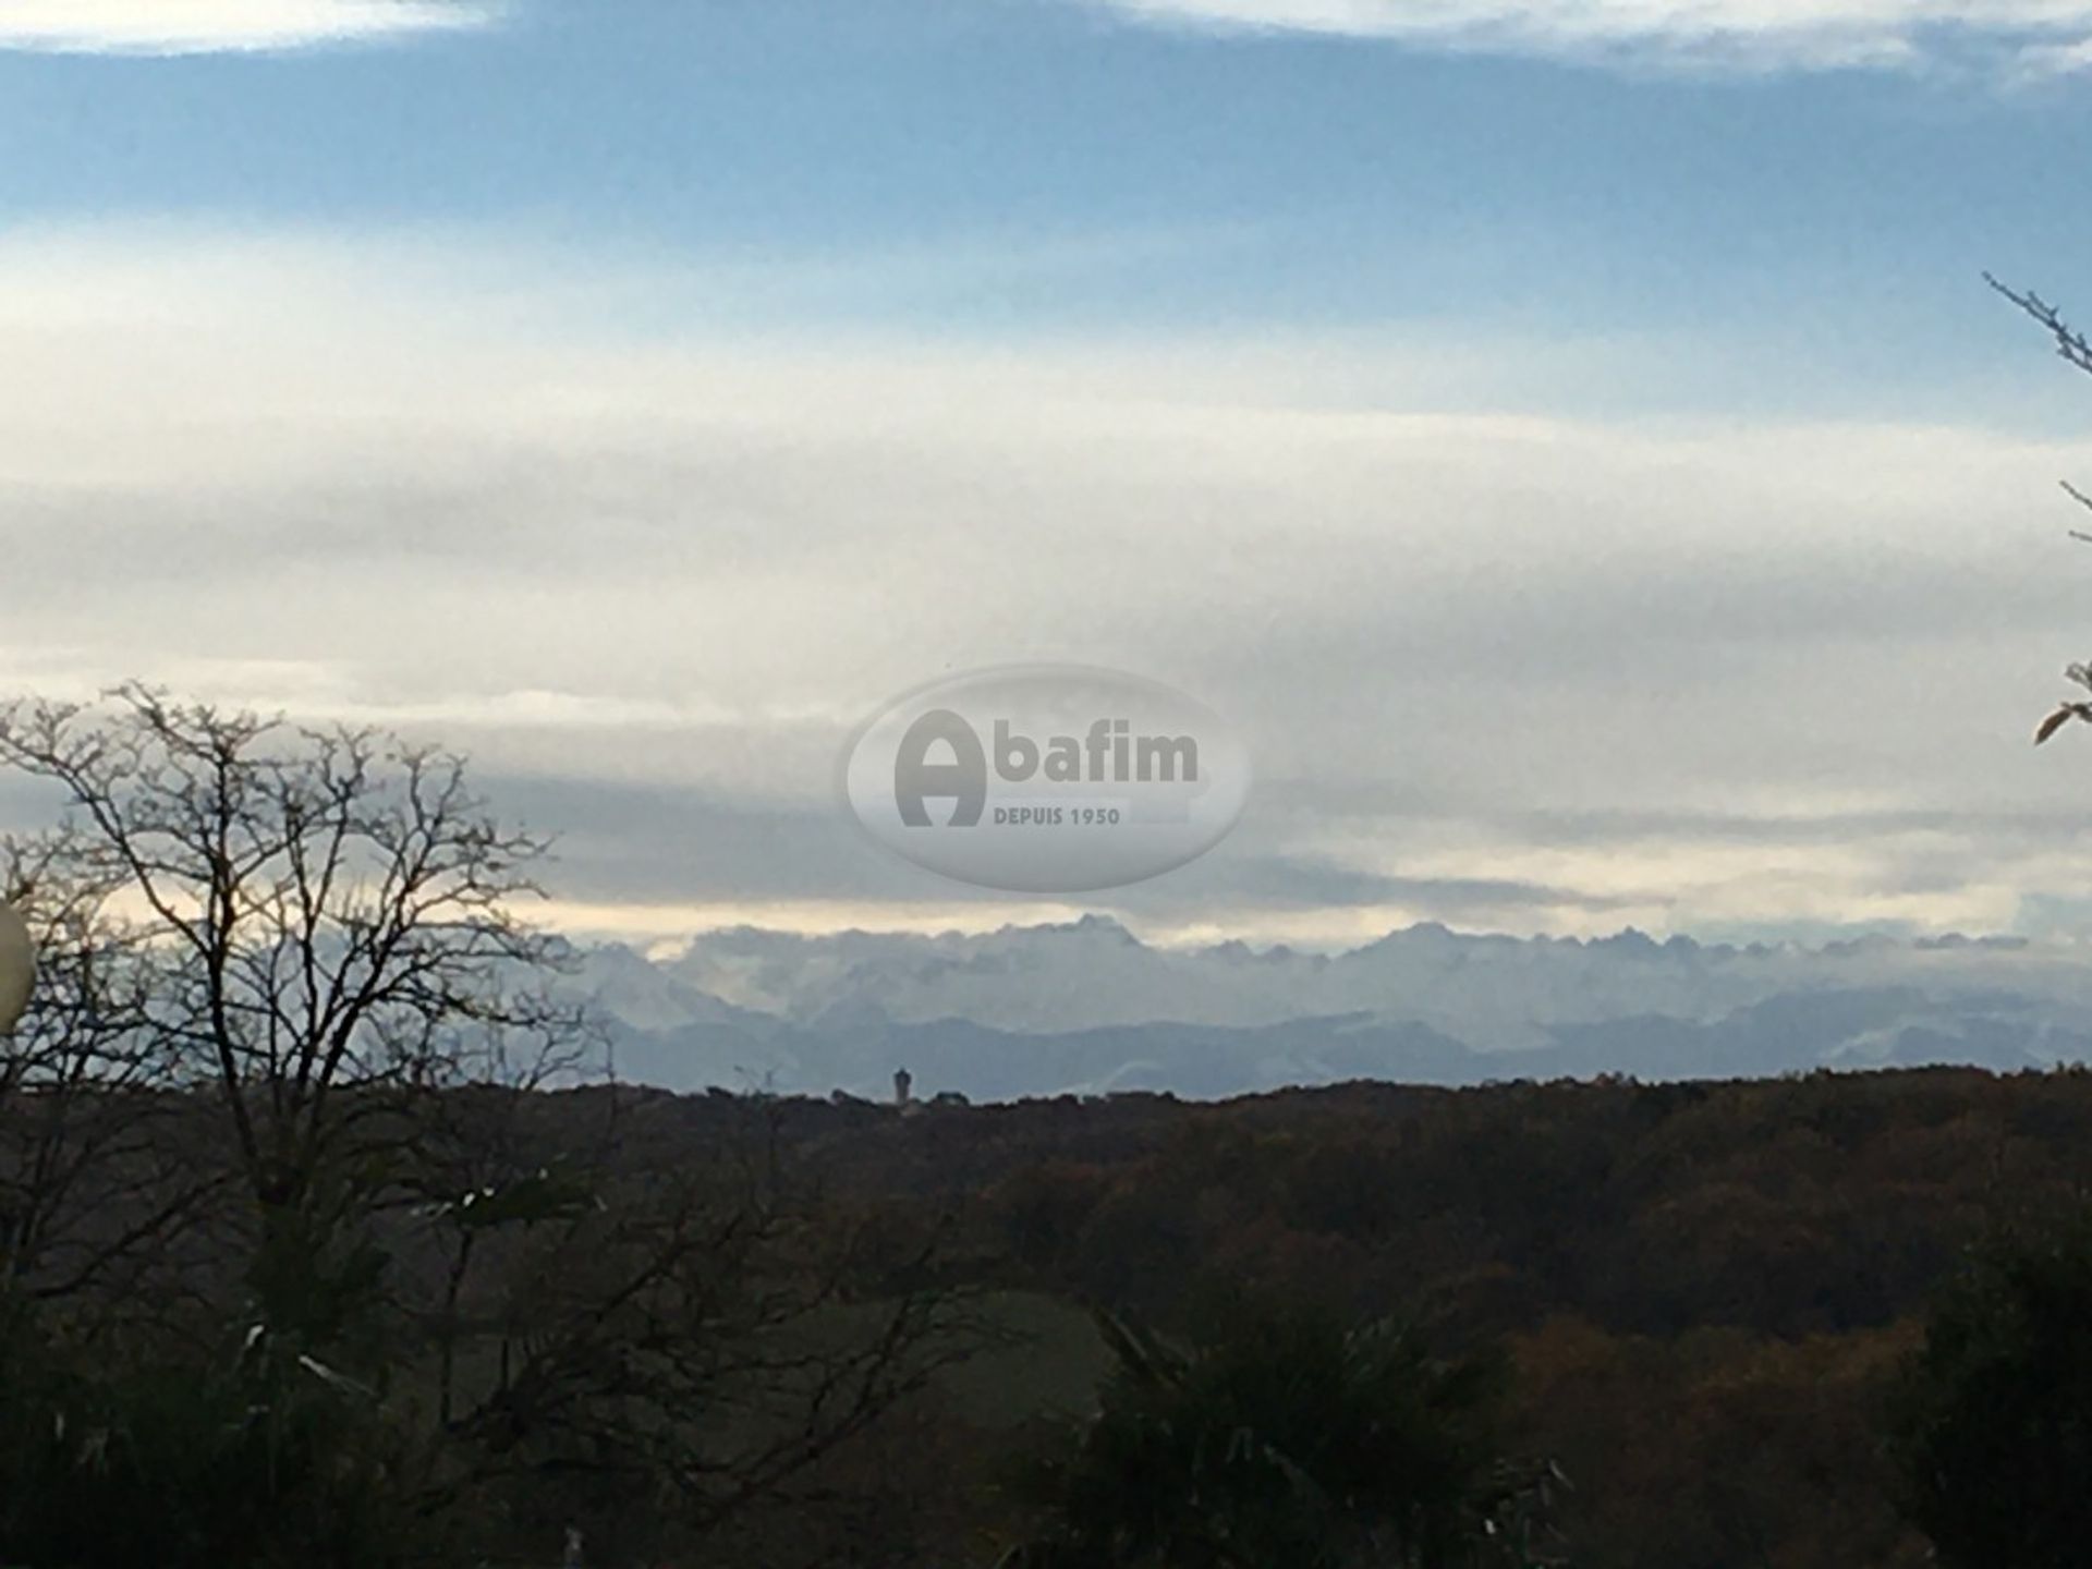
<path id="1" fill-rule="evenodd" d="M 632 341 L 496 249 L 0 241 L 0 688 L 431 732 L 536 780 L 592 923 L 952 910 L 835 759 L 1023 659 L 1253 736 L 1151 931 L 1998 927 L 2092 877 L 2088 738 L 2027 745 L 2082 441 L 1533 410 L 1531 341 Z"/>

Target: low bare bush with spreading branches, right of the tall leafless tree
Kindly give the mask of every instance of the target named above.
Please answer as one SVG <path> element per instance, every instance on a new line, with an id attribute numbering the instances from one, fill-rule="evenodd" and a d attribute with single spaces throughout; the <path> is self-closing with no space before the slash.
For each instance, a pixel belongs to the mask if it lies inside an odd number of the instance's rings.
<path id="1" fill-rule="evenodd" d="M 801 1178 L 768 1107 L 736 1107 L 672 1172 L 661 1128 L 628 1132 L 646 1153 L 588 1174 L 592 1190 L 571 1167 L 533 1174 L 448 1218 L 481 1249 L 450 1297 L 446 1492 L 565 1479 L 690 1542 L 994 1339 L 954 1284 L 950 1220 Z"/>

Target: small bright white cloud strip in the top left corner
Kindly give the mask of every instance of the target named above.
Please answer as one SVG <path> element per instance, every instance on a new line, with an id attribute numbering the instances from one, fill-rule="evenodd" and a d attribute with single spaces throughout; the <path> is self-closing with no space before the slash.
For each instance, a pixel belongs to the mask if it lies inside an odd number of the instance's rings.
<path id="1" fill-rule="evenodd" d="M 481 27 L 492 0 L 4 0 L 0 50 L 213 54 Z"/>

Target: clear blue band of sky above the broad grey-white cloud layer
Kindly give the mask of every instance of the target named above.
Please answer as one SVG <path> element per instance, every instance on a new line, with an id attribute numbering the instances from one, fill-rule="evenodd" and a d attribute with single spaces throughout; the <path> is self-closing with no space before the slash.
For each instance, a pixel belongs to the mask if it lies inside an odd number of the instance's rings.
<path id="1" fill-rule="evenodd" d="M 2075 82 L 1952 50 L 1613 69 L 1073 0 L 517 0 L 345 48 L 0 54 L 17 224 L 916 257 L 770 308 L 960 335 L 1506 324 L 1703 333 L 1741 360 L 1772 335 L 1814 349 L 1797 397 L 1828 379 L 1854 404 L 1996 368 L 1975 274 L 2088 251 L 2088 132 Z M 1768 395 L 1764 366 L 1736 374 Z"/>

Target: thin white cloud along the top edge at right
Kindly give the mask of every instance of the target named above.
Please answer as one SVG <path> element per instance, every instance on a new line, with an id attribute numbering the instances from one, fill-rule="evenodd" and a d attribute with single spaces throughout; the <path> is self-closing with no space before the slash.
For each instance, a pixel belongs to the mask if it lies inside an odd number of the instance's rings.
<path id="1" fill-rule="evenodd" d="M 2092 38 L 2088 0 L 1092 0 L 1161 25 L 1705 69 L 1912 69 L 2052 61 Z"/>

